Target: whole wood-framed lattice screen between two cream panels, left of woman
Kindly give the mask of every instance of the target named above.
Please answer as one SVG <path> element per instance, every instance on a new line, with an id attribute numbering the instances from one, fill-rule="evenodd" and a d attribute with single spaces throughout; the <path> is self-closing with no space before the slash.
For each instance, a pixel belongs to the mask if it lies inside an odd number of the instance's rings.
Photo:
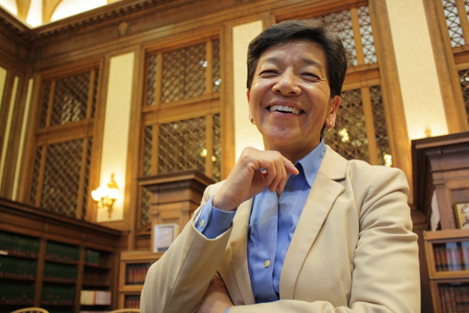
<path id="1" fill-rule="evenodd" d="M 141 176 L 198 170 L 220 179 L 219 50 L 219 40 L 208 39 L 147 55 L 142 118 L 152 122 L 143 127 Z M 140 188 L 139 226 L 150 223 L 150 198 Z"/>

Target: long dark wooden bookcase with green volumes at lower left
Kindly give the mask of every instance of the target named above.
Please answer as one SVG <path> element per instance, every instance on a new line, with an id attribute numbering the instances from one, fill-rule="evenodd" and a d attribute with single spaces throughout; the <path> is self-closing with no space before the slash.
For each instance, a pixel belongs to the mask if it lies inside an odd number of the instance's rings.
<path id="1" fill-rule="evenodd" d="M 25 306 L 51 313 L 115 308 L 121 235 L 0 198 L 0 313 Z"/>

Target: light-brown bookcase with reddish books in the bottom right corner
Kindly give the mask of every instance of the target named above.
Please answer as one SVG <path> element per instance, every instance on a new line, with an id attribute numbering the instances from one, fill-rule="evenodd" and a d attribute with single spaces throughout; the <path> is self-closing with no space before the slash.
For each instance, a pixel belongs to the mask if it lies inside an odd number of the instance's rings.
<path id="1" fill-rule="evenodd" d="M 424 231 L 435 312 L 469 312 L 469 229 Z"/>

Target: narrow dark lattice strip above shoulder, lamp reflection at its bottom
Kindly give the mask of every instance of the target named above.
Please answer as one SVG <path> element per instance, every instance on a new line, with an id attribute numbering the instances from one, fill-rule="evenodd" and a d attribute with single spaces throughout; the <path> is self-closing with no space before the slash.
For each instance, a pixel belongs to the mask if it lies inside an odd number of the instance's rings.
<path id="1" fill-rule="evenodd" d="M 370 87 L 370 96 L 373 110 L 373 122 L 375 126 L 376 146 L 378 148 L 378 161 L 380 165 L 392 165 L 391 149 L 386 128 L 386 116 L 384 113 L 381 86 Z"/>

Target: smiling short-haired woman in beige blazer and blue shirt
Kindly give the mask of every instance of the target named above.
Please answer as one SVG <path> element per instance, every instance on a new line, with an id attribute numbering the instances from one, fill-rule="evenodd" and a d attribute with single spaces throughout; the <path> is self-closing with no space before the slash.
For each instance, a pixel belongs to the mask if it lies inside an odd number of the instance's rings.
<path id="1" fill-rule="evenodd" d="M 150 268 L 142 312 L 419 312 L 417 235 L 404 173 L 323 141 L 347 69 L 316 20 L 265 29 L 247 98 L 264 151 L 246 148 Z M 213 280 L 212 280 L 213 277 Z"/>

